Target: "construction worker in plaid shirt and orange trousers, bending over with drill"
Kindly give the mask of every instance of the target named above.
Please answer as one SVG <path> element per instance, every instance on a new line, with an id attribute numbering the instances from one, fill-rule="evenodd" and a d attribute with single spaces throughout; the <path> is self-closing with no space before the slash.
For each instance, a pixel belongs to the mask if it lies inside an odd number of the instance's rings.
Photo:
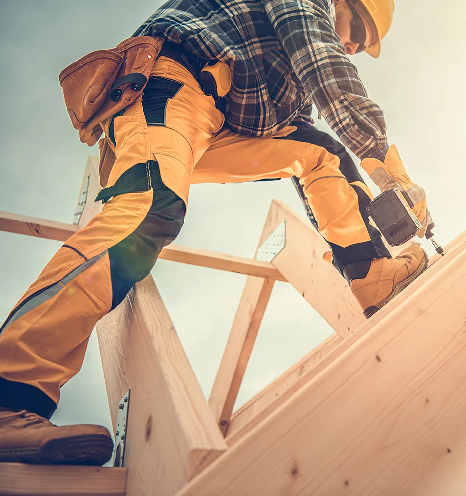
<path id="1" fill-rule="evenodd" d="M 423 236 L 422 190 L 389 149 L 382 111 L 349 60 L 379 56 L 393 9 L 392 0 L 170 0 L 136 31 L 165 41 L 142 96 L 101 123 L 116 157 L 101 171 L 103 211 L 58 250 L 1 327 L 0 460 L 110 458 L 105 428 L 47 419 L 95 323 L 178 235 L 192 183 L 295 178 L 366 316 L 426 268 L 418 247 L 390 257 L 369 224 L 368 187 L 310 117 L 314 104 L 382 190 L 417 191 Z M 228 63 L 232 78 L 217 102 L 200 85 L 209 61 Z"/>

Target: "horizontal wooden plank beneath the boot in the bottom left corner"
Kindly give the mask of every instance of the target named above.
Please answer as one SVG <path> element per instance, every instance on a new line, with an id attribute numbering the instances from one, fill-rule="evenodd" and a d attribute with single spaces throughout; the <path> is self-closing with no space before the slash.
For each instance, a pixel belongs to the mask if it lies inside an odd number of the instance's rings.
<path id="1" fill-rule="evenodd" d="M 124 496 L 126 468 L 0 463 L 0 495 Z"/>

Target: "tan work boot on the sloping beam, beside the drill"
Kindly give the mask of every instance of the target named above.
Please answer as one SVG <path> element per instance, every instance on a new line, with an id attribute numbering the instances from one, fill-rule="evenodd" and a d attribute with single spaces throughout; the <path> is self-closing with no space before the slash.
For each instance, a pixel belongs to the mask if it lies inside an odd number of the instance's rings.
<path id="1" fill-rule="evenodd" d="M 353 279 L 351 291 L 369 318 L 427 268 L 427 253 L 411 245 L 394 258 L 374 258 L 364 279 Z"/>

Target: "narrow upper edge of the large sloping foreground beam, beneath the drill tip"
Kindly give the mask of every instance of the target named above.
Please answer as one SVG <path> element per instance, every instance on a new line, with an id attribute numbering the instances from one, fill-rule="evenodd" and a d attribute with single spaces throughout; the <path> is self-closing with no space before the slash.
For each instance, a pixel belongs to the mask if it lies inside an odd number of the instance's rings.
<path id="1" fill-rule="evenodd" d="M 420 288 L 423 284 L 425 277 L 428 275 L 433 277 L 441 267 L 444 266 L 445 261 L 452 260 L 458 253 L 466 248 L 466 240 L 461 244 L 456 245 L 449 251 L 446 251 L 446 256 L 442 257 L 438 263 L 429 267 L 428 271 L 424 273 L 421 277 L 413 281 L 403 292 L 393 299 L 390 304 L 386 305 L 382 310 L 379 310 L 375 315 L 373 315 L 369 320 L 367 320 L 356 333 L 352 334 L 343 342 L 338 344 L 333 350 L 328 353 L 320 362 L 312 366 L 307 372 L 300 375 L 291 385 L 285 389 L 282 393 L 276 396 L 270 403 L 268 403 L 262 410 L 260 410 L 256 415 L 254 415 L 250 420 L 243 424 L 239 429 L 232 432 L 227 438 L 227 444 L 232 446 L 234 443 L 242 439 L 246 434 L 251 432 L 259 424 L 263 423 L 267 417 L 272 415 L 281 405 L 283 405 L 288 399 L 291 398 L 297 391 L 304 387 L 308 382 L 313 380 L 318 374 L 322 373 L 327 367 L 329 367 L 335 360 L 337 360 L 342 353 L 344 353 L 360 336 L 366 333 L 371 327 L 375 326 L 383 316 L 389 312 L 398 302 L 403 301 L 403 299 L 408 298 L 416 290 Z M 440 263 L 442 262 L 442 263 Z"/>

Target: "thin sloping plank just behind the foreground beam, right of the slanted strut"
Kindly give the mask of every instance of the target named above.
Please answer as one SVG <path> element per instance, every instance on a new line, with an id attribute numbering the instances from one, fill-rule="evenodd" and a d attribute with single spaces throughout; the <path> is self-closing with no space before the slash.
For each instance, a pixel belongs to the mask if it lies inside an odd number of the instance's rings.
<path id="1" fill-rule="evenodd" d="M 299 362 L 291 366 L 286 372 L 283 372 L 282 375 L 277 377 L 260 393 L 256 394 L 256 396 L 236 410 L 229 422 L 228 435 L 225 439 L 227 444 L 229 446 L 234 444 L 240 438 L 240 436 L 234 435 L 235 431 L 249 422 L 279 394 L 285 391 L 298 377 L 319 363 L 323 357 L 336 348 L 342 341 L 343 338 L 337 333 L 332 334 L 323 343 L 299 360 Z"/>

